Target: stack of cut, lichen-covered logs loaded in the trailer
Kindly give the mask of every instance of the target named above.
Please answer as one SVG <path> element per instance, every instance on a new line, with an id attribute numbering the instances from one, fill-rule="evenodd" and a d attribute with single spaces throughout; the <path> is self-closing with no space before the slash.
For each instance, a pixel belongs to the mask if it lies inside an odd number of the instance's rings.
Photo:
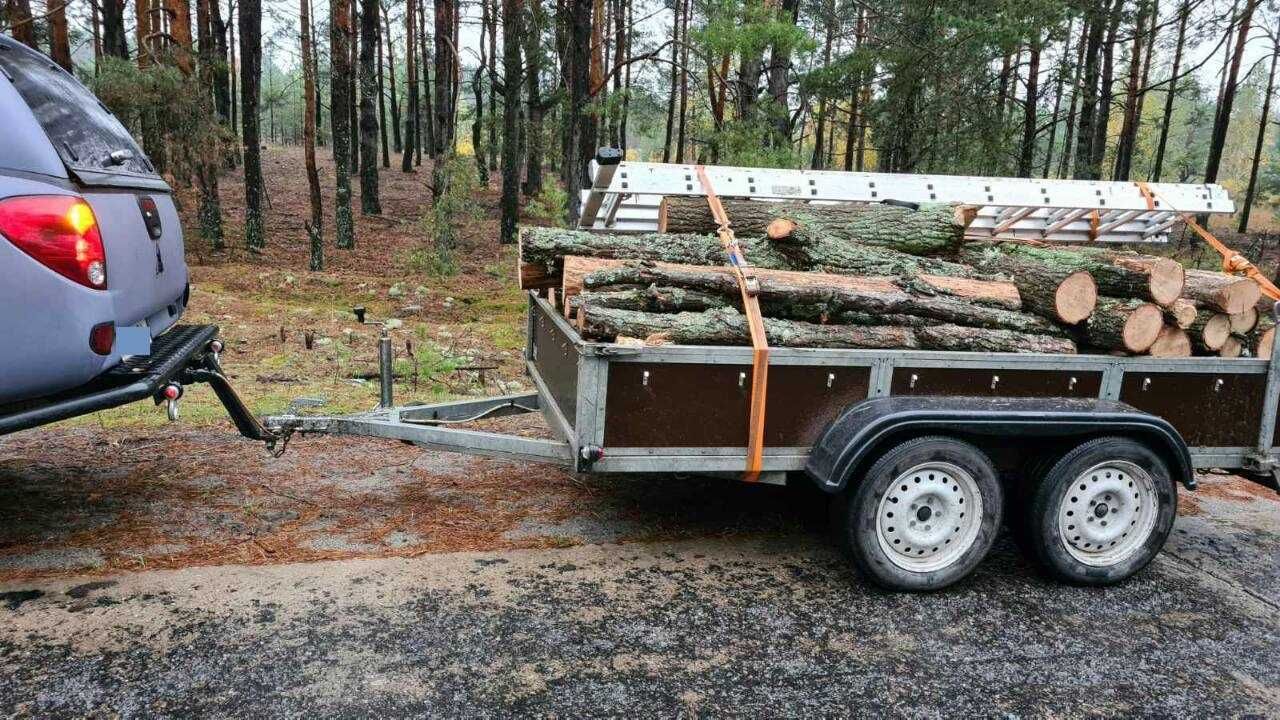
<path id="1" fill-rule="evenodd" d="M 771 345 L 1164 357 L 1270 356 L 1253 281 L 1165 258 L 965 237 L 957 205 L 726 200 Z M 663 201 L 659 233 L 524 228 L 521 287 L 584 337 L 748 342 L 741 291 L 705 199 Z"/>

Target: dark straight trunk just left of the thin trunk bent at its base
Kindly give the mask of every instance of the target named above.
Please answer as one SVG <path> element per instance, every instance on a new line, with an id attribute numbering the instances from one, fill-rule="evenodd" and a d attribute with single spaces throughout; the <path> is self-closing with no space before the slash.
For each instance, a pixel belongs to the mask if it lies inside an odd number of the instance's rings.
<path id="1" fill-rule="evenodd" d="M 257 104 L 262 77 L 262 6 L 260 0 L 241 0 L 239 85 L 244 143 L 244 245 L 251 251 L 266 245 L 262 223 L 262 141 L 257 127 Z"/>

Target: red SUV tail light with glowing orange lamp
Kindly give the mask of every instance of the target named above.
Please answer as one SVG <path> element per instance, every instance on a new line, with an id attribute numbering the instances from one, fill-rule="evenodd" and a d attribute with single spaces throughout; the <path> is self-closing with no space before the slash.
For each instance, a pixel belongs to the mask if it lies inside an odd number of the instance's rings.
<path id="1" fill-rule="evenodd" d="M 106 254 L 93 210 L 73 195 L 0 200 L 0 234 L 55 273 L 106 290 Z"/>

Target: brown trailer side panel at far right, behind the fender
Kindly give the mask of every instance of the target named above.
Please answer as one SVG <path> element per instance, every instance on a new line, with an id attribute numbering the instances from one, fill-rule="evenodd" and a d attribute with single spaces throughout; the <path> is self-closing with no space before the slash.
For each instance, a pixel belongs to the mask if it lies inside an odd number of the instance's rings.
<path id="1" fill-rule="evenodd" d="M 1169 420 L 1193 447 L 1245 447 L 1258 442 L 1266 382 L 1256 374 L 1125 373 L 1120 401 Z"/>

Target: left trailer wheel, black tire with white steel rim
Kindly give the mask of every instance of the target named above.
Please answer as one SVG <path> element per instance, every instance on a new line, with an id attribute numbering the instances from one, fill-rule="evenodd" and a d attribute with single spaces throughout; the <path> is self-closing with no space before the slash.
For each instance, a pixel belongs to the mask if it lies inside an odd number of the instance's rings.
<path id="1" fill-rule="evenodd" d="M 846 491 L 842 544 L 874 583 L 902 591 L 947 587 L 977 568 L 1000 528 L 1004 495 L 987 455 L 948 437 L 886 452 Z"/>

